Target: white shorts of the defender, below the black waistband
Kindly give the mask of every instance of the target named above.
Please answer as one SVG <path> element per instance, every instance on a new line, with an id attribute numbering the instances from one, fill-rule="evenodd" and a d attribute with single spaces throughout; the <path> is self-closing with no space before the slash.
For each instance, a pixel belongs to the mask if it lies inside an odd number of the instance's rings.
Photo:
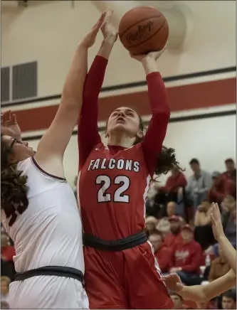
<path id="1" fill-rule="evenodd" d="M 89 301 L 78 280 L 38 276 L 10 284 L 9 308 L 89 309 Z"/>

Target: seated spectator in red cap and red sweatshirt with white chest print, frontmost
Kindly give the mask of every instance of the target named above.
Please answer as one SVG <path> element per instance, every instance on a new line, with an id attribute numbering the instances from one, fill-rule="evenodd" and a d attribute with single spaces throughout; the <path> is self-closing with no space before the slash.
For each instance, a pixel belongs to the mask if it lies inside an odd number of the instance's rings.
<path id="1" fill-rule="evenodd" d="M 179 274 L 185 285 L 201 283 L 199 267 L 202 257 L 201 245 L 194 240 L 194 231 L 189 224 L 181 228 L 181 241 L 172 248 L 170 272 Z"/>

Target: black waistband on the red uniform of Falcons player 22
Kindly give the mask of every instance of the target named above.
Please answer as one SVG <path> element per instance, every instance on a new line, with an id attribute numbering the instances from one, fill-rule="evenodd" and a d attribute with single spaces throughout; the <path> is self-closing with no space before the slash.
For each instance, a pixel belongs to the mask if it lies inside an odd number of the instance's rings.
<path id="1" fill-rule="evenodd" d="M 93 235 L 83 235 L 83 245 L 102 251 L 123 251 L 142 245 L 144 242 L 147 242 L 147 235 L 144 231 L 113 241 L 105 241 Z"/>

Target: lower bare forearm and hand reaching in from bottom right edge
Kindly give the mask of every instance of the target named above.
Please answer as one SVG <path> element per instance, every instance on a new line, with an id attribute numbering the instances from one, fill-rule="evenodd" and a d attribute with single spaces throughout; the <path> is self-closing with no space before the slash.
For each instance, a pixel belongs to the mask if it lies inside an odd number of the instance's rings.
<path id="1" fill-rule="evenodd" d="M 163 277 L 163 281 L 168 289 L 177 292 L 184 299 L 204 302 L 228 291 L 228 289 L 231 289 L 232 287 L 235 287 L 236 274 L 231 269 L 227 274 L 224 274 L 222 277 L 210 282 L 209 284 L 194 285 L 192 287 L 184 286 L 177 274 L 169 274 Z"/>

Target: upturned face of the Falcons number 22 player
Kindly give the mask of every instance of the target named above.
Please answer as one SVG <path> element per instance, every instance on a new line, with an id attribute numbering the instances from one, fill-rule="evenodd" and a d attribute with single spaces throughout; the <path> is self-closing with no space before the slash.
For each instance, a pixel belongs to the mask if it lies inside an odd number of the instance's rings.
<path id="1" fill-rule="evenodd" d="M 115 109 L 107 122 L 107 134 L 127 134 L 130 138 L 142 137 L 142 131 L 139 129 L 139 117 L 137 113 L 129 107 L 119 107 Z"/>

